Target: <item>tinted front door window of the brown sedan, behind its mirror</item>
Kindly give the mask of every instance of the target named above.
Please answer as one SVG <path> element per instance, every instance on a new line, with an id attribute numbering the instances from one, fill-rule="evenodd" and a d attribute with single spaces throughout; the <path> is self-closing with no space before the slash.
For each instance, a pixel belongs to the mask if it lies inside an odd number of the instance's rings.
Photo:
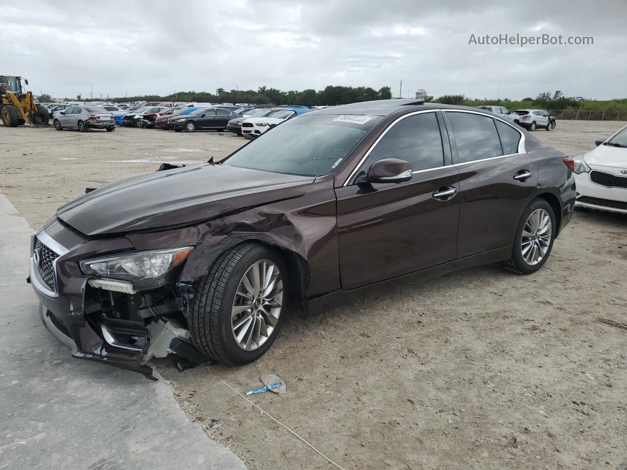
<path id="1" fill-rule="evenodd" d="M 443 166 L 442 137 L 435 113 L 416 114 L 394 124 L 372 149 L 368 164 L 386 158 L 406 160 L 414 171 Z"/>

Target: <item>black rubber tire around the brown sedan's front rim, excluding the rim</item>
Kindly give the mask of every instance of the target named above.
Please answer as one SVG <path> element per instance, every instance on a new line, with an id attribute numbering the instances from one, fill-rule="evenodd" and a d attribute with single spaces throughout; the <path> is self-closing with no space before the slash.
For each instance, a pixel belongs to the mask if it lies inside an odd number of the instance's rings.
<path id="1" fill-rule="evenodd" d="M 243 350 L 233 337 L 231 309 L 233 300 L 248 268 L 256 261 L 270 259 L 282 273 L 283 306 L 271 335 L 260 347 Z M 287 315 L 287 268 L 280 254 L 263 244 L 246 242 L 221 254 L 211 265 L 209 273 L 194 283 L 189 307 L 189 331 L 196 348 L 208 357 L 229 365 L 245 365 L 260 358 L 277 338 Z"/>

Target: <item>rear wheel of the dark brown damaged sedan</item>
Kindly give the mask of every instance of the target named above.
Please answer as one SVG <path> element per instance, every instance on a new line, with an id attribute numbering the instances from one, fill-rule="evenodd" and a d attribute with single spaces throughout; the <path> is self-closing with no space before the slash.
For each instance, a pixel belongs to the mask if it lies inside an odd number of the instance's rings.
<path id="1" fill-rule="evenodd" d="M 503 266 L 517 274 L 532 274 L 546 263 L 557 226 L 551 204 L 544 199 L 534 199 L 522 213 L 514 238 L 512 258 Z"/>

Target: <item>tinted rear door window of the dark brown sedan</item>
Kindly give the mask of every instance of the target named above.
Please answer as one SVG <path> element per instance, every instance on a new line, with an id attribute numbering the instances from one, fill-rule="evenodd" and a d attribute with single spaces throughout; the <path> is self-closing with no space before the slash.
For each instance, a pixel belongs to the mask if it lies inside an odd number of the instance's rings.
<path id="1" fill-rule="evenodd" d="M 503 155 L 494 120 L 471 113 L 447 112 L 460 163 Z"/>

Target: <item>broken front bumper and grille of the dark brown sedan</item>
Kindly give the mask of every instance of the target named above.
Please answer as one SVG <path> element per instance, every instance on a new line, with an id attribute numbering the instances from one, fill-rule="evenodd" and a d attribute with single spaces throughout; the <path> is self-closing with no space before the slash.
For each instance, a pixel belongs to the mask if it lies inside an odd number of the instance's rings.
<path id="1" fill-rule="evenodd" d="M 189 285 L 171 282 L 137 292 L 94 282 L 80 271 L 78 259 L 103 249 L 124 251 L 132 245 L 126 238 L 86 241 L 58 221 L 31 240 L 28 281 L 40 300 L 41 319 L 72 357 L 133 370 L 152 380 L 148 361 L 153 357 L 175 353 L 181 367 L 209 362 L 194 348 L 186 328 Z"/>

